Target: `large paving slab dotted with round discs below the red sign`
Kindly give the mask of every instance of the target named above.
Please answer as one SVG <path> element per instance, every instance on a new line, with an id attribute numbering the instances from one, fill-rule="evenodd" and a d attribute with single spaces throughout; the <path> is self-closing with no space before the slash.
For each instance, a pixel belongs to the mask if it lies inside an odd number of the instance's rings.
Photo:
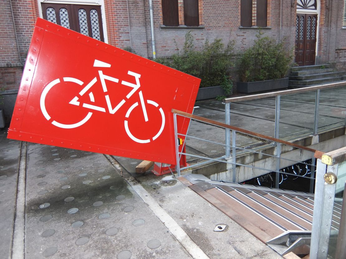
<path id="1" fill-rule="evenodd" d="M 25 251 L 37 258 L 191 258 L 102 154 L 28 144 Z"/>

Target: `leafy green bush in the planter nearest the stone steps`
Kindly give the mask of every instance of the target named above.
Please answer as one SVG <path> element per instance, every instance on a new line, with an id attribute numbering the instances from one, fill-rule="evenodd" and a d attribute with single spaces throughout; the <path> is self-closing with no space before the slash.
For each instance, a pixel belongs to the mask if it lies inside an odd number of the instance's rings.
<path id="1" fill-rule="evenodd" d="M 286 51 L 283 42 L 256 35 L 254 46 L 243 52 L 238 63 L 239 80 L 253 82 L 284 78 L 292 63 L 292 50 Z"/>

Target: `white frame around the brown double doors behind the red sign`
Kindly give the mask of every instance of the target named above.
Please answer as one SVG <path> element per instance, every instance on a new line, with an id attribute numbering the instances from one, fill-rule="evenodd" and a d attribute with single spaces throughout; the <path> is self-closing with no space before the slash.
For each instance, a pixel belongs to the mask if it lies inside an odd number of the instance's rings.
<path id="1" fill-rule="evenodd" d="M 106 24 L 106 12 L 104 11 L 104 1 L 103 0 L 37 0 L 38 11 L 40 18 L 43 18 L 41 3 L 61 3 L 61 4 L 90 4 L 101 6 L 101 18 L 102 18 L 102 28 L 103 28 L 103 38 L 104 42 L 108 44 L 107 37 L 107 24 Z"/>

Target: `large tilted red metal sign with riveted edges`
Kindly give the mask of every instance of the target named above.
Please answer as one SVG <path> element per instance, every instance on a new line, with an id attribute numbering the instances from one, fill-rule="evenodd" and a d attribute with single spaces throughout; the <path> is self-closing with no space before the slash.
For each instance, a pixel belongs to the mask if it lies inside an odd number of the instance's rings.
<path id="1" fill-rule="evenodd" d="M 176 164 L 171 109 L 191 113 L 199 83 L 38 18 L 8 137 Z"/>

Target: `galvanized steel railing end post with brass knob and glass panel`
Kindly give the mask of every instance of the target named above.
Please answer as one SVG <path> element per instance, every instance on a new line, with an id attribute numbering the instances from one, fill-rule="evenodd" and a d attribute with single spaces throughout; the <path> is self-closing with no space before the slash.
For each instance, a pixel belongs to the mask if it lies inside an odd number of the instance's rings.
<path id="1" fill-rule="evenodd" d="M 310 259 L 346 258 L 345 180 L 346 147 L 318 156 Z M 335 207 L 340 212 L 338 230 L 332 225 Z"/>

